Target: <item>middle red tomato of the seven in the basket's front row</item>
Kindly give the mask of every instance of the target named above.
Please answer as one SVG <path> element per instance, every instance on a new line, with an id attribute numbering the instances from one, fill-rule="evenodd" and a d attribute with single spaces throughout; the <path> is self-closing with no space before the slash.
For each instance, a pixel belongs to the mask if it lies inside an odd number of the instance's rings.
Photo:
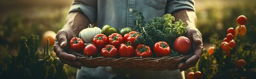
<path id="1" fill-rule="evenodd" d="M 120 57 L 132 57 L 134 55 L 134 49 L 131 46 L 131 41 L 127 43 L 122 43 L 119 46 L 119 56 Z"/>

